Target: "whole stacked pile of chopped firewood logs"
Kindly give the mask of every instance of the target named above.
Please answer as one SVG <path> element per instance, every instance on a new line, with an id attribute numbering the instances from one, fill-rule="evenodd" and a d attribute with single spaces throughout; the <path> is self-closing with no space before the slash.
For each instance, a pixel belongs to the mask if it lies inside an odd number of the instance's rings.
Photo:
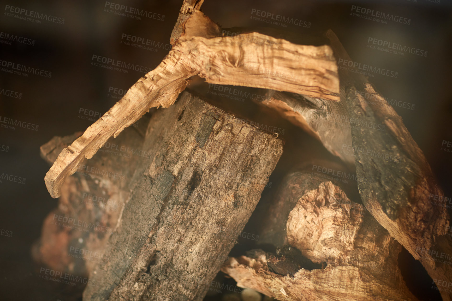
<path id="1" fill-rule="evenodd" d="M 418 300 L 402 246 L 452 279 L 435 257 L 452 250 L 429 200 L 442 189 L 367 77 L 338 69 L 335 34 L 222 36 L 202 2 L 184 1 L 170 53 L 113 108 L 41 147 L 59 206 L 35 259 L 89 277 L 96 301 Z"/>

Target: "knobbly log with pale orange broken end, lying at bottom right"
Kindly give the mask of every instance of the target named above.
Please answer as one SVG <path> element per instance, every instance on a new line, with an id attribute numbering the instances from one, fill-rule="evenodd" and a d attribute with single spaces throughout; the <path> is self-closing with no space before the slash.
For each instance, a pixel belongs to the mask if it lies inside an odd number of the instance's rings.
<path id="1" fill-rule="evenodd" d="M 310 178 L 297 172 L 282 184 L 282 189 L 301 192 L 286 195 L 288 203 L 297 201 L 290 212 L 277 212 L 287 220 L 286 255 L 276 258 L 255 250 L 231 258 L 221 271 L 239 287 L 283 301 L 417 300 L 398 267 L 401 245 L 338 186 Z M 298 186 L 303 183 L 306 189 Z M 295 248 L 321 268 L 297 259 Z"/>

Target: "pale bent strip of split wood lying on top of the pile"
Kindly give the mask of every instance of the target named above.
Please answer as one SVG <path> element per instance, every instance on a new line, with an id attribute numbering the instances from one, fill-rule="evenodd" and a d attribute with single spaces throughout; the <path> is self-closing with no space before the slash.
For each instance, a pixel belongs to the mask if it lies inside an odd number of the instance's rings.
<path id="1" fill-rule="evenodd" d="M 81 160 L 91 158 L 109 137 L 118 136 L 149 108 L 172 105 L 192 75 L 214 84 L 285 90 L 339 101 L 337 65 L 330 47 L 296 45 L 259 33 L 221 37 L 220 27 L 199 11 L 201 4 L 184 2 L 171 34 L 170 53 L 61 152 L 45 177 L 53 198 L 60 195 L 61 184 Z"/>

